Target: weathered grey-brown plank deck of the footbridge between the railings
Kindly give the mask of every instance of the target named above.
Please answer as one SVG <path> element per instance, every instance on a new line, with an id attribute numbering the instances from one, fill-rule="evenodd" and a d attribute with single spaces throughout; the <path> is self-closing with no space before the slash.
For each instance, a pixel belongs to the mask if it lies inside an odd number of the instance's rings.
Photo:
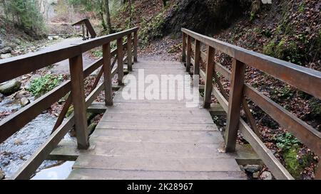
<path id="1" fill-rule="evenodd" d="M 141 61 L 129 75 L 138 75 L 139 69 L 144 69 L 145 77 L 186 73 L 181 63 Z M 219 152 L 223 137 L 201 104 L 188 108 L 186 99 L 126 100 L 123 90 L 117 92 L 113 107 L 91 135 L 91 149 L 81 151 L 68 179 L 245 178 L 235 156 Z"/>

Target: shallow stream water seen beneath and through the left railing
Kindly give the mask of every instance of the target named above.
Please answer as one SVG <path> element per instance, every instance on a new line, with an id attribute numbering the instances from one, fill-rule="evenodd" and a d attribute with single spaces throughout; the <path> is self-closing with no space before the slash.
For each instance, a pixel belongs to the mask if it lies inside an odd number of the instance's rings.
<path id="1" fill-rule="evenodd" d="M 20 109 L 20 104 L 11 99 L 4 99 L 0 102 L 0 112 L 10 112 L 14 109 Z M 36 119 L 29 124 L 26 124 L 23 129 L 19 130 L 13 136 L 6 139 L 2 144 L 0 144 L 0 169 L 4 171 L 6 178 L 10 178 L 24 162 L 41 146 L 41 144 L 46 141 L 46 139 L 51 134 L 51 130 L 56 122 L 56 117 L 51 114 L 40 114 Z M 68 134 L 64 139 L 72 139 Z M 44 161 L 39 167 L 39 170 L 47 168 L 48 166 L 53 166 L 57 164 L 58 161 Z M 67 163 L 70 164 L 70 163 Z M 62 167 L 66 169 L 66 164 Z M 48 169 L 46 169 L 48 170 Z M 61 175 L 61 168 L 55 166 L 51 169 L 52 172 L 57 173 L 58 178 L 66 177 L 66 173 Z M 41 173 L 43 174 L 43 173 Z M 37 176 L 36 176 L 37 177 Z M 51 176 L 40 176 L 43 179 L 51 179 Z"/>

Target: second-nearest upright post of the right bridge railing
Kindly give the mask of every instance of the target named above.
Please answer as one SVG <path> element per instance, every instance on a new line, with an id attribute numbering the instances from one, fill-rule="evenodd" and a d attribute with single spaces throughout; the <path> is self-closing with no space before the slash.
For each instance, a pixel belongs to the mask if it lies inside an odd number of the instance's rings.
<path id="1" fill-rule="evenodd" d="M 208 109 L 212 102 L 212 88 L 213 88 L 213 71 L 214 71 L 214 54 L 215 49 L 208 45 L 206 55 L 206 77 L 205 77 L 205 92 L 203 107 Z"/>

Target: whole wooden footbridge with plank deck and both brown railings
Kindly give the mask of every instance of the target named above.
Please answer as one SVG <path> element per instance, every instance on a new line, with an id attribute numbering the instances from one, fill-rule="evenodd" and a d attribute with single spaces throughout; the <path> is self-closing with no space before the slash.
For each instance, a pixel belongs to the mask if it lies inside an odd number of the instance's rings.
<path id="1" fill-rule="evenodd" d="M 76 163 L 69 179 L 245 179 L 245 174 L 240 171 L 235 161 L 238 130 L 275 178 L 292 179 L 290 173 L 260 140 L 247 99 L 286 127 L 317 156 L 321 155 L 319 131 L 244 81 L 245 66 L 249 65 L 321 99 L 321 72 L 245 50 L 185 28 L 182 32 L 185 66 L 178 62 L 138 59 L 138 28 L 45 53 L 0 60 L 0 82 L 34 72 L 61 60 L 69 59 L 70 62 L 71 80 L 63 82 L 0 122 L 0 142 L 3 142 L 70 92 L 49 139 L 11 178 L 29 179 L 57 146 L 59 148 L 63 136 L 75 126 L 78 149 L 73 150 Z M 111 50 L 112 41 L 117 42 L 114 50 Z M 103 58 L 83 70 L 82 54 L 100 46 Z M 215 50 L 233 58 L 231 72 L 215 62 Z M 205 72 L 200 68 L 201 61 L 205 63 Z M 192 65 L 193 72 L 190 72 Z M 126 70 L 124 67 L 127 67 Z M 99 68 L 91 93 L 85 96 L 83 80 Z M 140 77 L 142 70 L 144 75 Z M 230 81 L 229 95 L 223 90 L 216 72 Z M 124 76 L 126 73 L 128 75 Z M 120 90 L 113 97 L 111 80 L 116 74 Z M 153 90 L 156 95 L 162 93 L 161 95 L 165 96 L 178 94 L 186 88 L 193 90 L 195 83 L 198 84 L 197 75 L 200 75 L 205 80 L 204 97 L 200 97 L 200 102 L 190 102 L 190 99 L 186 98 L 124 97 L 126 90 L 133 92 L 136 86 L 137 95 L 143 96 L 148 86 L 139 87 L 140 79 L 148 80 L 149 75 L 160 80 L 162 75 L 193 75 L 196 80 L 193 85 L 186 85 L 178 80 L 173 82 L 174 90 L 165 90 L 165 93 Z M 103 82 L 99 82 L 101 77 Z M 133 77 L 138 77 L 138 80 L 133 81 Z M 218 88 L 213 85 L 213 80 Z M 94 102 L 102 91 L 105 102 Z M 210 116 L 213 96 L 228 115 L 225 141 Z M 74 112 L 64 119 L 71 104 Z M 241 109 L 244 110 L 248 122 L 240 118 Z M 91 136 L 87 129 L 87 111 L 105 112 Z M 318 168 L 317 178 L 320 176 Z"/>

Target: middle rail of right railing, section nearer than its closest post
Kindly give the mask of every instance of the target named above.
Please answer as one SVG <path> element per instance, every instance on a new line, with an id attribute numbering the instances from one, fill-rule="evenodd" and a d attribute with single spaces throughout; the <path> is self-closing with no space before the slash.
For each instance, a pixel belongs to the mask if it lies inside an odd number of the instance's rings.
<path id="1" fill-rule="evenodd" d="M 295 117 L 279 104 L 245 84 L 244 95 L 249 97 L 264 112 L 275 119 L 281 126 L 287 128 L 297 139 L 311 149 L 317 156 L 321 156 L 321 133 L 312 126 Z"/>

